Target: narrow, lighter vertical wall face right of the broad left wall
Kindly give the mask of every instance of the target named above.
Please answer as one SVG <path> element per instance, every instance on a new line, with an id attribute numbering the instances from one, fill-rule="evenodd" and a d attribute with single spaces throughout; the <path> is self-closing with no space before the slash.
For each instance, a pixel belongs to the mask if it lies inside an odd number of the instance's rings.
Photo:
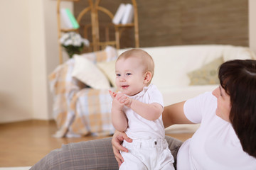
<path id="1" fill-rule="evenodd" d="M 32 74 L 33 117 L 48 119 L 47 74 L 46 74 L 46 22 L 43 1 L 29 1 L 30 52 Z"/>

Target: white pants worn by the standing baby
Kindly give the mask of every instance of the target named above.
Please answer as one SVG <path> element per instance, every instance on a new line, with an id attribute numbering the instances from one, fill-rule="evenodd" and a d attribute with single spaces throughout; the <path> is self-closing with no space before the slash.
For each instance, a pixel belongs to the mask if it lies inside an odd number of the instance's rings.
<path id="1" fill-rule="evenodd" d="M 123 147 L 128 152 L 121 152 L 124 162 L 119 169 L 174 169 L 174 157 L 165 139 L 133 140 L 132 143 L 124 140 Z"/>

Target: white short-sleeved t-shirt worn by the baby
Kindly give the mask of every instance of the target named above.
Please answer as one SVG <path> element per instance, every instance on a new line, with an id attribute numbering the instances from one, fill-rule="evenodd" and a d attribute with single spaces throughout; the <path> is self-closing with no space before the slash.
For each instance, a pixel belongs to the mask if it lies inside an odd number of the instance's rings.
<path id="1" fill-rule="evenodd" d="M 130 96 L 130 98 L 143 103 L 159 103 L 164 108 L 163 96 L 154 84 L 145 86 L 139 94 Z M 130 138 L 143 140 L 164 138 L 162 115 L 157 120 L 146 120 L 126 106 L 124 113 L 128 118 L 128 128 L 125 132 Z"/>

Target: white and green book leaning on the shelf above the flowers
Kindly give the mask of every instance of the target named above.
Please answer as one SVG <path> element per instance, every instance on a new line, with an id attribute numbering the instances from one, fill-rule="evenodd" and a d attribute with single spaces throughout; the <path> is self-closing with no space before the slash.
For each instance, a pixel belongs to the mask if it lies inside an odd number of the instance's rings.
<path id="1" fill-rule="evenodd" d="M 73 16 L 73 13 L 69 10 L 69 8 L 61 8 L 60 9 L 60 16 L 62 18 L 63 24 L 65 28 L 68 29 L 78 29 L 79 24 Z"/>

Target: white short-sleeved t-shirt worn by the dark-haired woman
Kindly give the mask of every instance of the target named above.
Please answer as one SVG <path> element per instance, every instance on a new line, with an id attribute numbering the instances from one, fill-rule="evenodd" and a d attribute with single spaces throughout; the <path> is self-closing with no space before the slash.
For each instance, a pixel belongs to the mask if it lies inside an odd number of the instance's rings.
<path id="1" fill-rule="evenodd" d="M 256 159 L 243 152 L 230 123 L 215 114 L 217 98 L 211 92 L 184 104 L 186 118 L 201 123 L 191 139 L 181 145 L 177 169 L 256 169 Z"/>

